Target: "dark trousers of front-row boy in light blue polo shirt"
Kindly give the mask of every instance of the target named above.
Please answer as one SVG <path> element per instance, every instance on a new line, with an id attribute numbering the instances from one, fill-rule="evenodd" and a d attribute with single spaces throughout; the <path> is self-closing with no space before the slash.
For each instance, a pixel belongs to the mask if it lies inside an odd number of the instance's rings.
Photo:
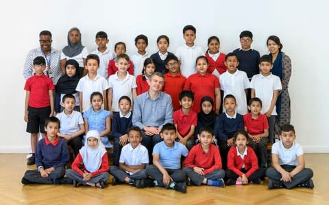
<path id="1" fill-rule="evenodd" d="M 184 182 L 186 178 L 185 172 L 183 172 L 182 169 L 166 169 L 168 172 L 169 176 L 173 179 L 174 182 Z M 155 165 L 149 165 L 146 168 L 146 172 L 149 176 L 154 178 L 154 180 L 158 181 L 158 186 L 159 187 L 165 187 L 163 184 L 163 174 L 160 172 L 158 167 Z"/>

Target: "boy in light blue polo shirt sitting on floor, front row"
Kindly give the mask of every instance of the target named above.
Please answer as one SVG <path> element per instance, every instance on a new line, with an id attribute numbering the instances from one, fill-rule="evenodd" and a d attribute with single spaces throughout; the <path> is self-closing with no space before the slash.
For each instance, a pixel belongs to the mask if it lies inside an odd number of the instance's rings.
<path id="1" fill-rule="evenodd" d="M 164 124 L 160 135 L 163 141 L 153 148 L 153 165 L 146 168 L 147 174 L 154 178 L 156 186 L 186 193 L 186 174 L 180 169 L 180 165 L 182 156 L 187 156 L 188 150 L 175 141 L 177 135 L 173 124 Z"/>

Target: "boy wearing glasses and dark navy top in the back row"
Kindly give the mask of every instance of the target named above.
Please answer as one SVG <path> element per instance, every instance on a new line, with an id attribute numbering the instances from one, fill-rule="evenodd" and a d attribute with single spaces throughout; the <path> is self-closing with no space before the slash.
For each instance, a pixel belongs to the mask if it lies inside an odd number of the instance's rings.
<path id="1" fill-rule="evenodd" d="M 252 80 L 255 74 L 259 74 L 258 64 L 260 55 L 258 51 L 251 49 L 252 36 L 251 31 L 242 31 L 240 33 L 241 49 L 235 49 L 233 51 L 239 59 L 238 70 L 246 72 L 249 81 Z M 249 88 L 247 89 L 247 102 L 249 102 L 250 98 L 251 90 Z"/>

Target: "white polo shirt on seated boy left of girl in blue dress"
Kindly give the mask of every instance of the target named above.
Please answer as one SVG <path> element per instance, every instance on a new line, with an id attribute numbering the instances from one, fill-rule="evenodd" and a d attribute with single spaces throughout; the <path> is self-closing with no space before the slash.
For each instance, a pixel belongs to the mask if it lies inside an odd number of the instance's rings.
<path id="1" fill-rule="evenodd" d="M 84 124 L 84 119 L 80 112 L 73 110 L 71 115 L 66 115 L 64 111 L 58 113 L 56 118 L 60 120 L 60 133 L 71 135 L 80 131 L 80 124 Z"/>

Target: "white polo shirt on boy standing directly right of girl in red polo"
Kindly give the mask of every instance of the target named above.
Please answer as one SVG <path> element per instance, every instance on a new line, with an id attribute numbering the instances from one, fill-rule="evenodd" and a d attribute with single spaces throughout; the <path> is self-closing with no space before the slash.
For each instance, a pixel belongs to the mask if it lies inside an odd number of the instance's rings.
<path id="1" fill-rule="evenodd" d="M 221 84 L 221 90 L 224 91 L 223 99 L 228 94 L 232 94 L 236 98 L 236 111 L 240 115 L 248 113 L 245 89 L 250 87 L 250 82 L 247 74 L 241 70 L 236 70 L 236 72 L 230 74 L 227 70 L 219 77 L 219 83 Z M 223 111 L 225 111 L 224 107 Z"/>

